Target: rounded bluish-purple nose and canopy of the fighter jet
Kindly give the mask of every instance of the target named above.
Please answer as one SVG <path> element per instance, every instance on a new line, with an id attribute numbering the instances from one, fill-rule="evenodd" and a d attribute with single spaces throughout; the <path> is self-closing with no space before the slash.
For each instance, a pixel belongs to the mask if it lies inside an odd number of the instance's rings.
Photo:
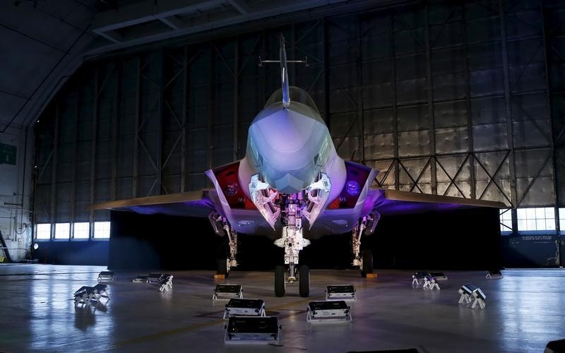
<path id="1" fill-rule="evenodd" d="M 273 93 L 251 122 L 246 156 L 273 189 L 297 193 L 317 180 L 335 148 L 308 93 L 291 87 L 285 108 L 281 92 Z"/>

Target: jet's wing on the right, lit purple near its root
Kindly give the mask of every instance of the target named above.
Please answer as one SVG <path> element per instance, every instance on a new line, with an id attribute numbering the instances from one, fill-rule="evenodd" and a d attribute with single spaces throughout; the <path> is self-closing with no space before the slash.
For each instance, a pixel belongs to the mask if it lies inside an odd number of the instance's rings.
<path id="1" fill-rule="evenodd" d="M 381 215 L 402 215 L 469 207 L 506 208 L 506 205 L 495 201 L 472 200 L 470 198 L 428 193 L 369 189 L 363 205 L 363 214 L 366 215 L 371 210 L 376 210 Z"/>

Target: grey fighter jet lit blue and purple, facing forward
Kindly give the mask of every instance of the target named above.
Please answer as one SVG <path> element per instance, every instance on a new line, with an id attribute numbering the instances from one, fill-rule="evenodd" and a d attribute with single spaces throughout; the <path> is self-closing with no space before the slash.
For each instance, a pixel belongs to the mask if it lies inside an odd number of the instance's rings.
<path id="1" fill-rule="evenodd" d="M 362 275 L 373 273 L 364 236 L 374 233 L 381 215 L 456 207 L 502 208 L 501 203 L 451 196 L 372 188 L 376 169 L 343 160 L 335 150 L 328 126 L 314 100 L 291 87 L 285 40 L 280 37 L 281 88 L 270 96 L 251 126 L 246 155 L 207 170 L 214 188 L 164 196 L 133 198 L 90 205 L 90 210 L 129 210 L 208 217 L 215 234 L 225 236 L 229 257 L 218 273 L 237 266 L 237 235 L 264 235 L 285 249 L 284 263 L 275 268 L 275 295 L 285 284 L 298 282 L 299 294 L 309 296 L 309 268 L 299 266 L 299 252 L 328 234 L 352 234 L 352 265 Z M 282 263 L 282 261 L 281 261 Z"/>

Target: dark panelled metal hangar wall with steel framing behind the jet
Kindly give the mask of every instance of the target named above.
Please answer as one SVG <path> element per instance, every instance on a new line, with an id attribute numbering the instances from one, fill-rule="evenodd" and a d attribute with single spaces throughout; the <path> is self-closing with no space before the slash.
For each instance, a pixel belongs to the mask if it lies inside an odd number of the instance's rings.
<path id="1" fill-rule="evenodd" d="M 90 203 L 206 187 L 244 156 L 280 86 L 308 90 L 339 154 L 380 186 L 565 205 L 565 3 L 429 1 L 261 28 L 85 64 L 36 127 L 35 222 L 108 220 Z"/>

